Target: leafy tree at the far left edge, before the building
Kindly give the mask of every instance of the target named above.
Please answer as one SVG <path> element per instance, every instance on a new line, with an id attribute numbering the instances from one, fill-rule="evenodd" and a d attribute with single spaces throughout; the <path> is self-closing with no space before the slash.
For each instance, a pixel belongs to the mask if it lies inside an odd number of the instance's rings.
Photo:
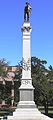
<path id="1" fill-rule="evenodd" d="M 6 70 L 6 67 L 8 66 L 8 62 L 6 62 L 6 60 L 3 58 L 3 59 L 1 59 L 0 60 L 0 77 L 3 79 L 3 85 L 2 85 L 2 89 L 1 89 L 1 91 L 2 91 L 2 93 L 0 93 L 0 99 L 2 99 L 3 100 L 3 103 L 5 103 L 5 96 L 6 96 L 6 94 L 5 94 L 5 90 L 6 90 L 6 88 L 5 88 L 5 77 L 7 76 L 7 70 Z M 0 92 L 1 92 L 0 91 Z"/>

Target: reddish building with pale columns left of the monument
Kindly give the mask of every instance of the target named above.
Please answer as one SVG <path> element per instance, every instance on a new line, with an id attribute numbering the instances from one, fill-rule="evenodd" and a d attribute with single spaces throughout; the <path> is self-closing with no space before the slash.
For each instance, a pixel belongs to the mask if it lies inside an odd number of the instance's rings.
<path id="1" fill-rule="evenodd" d="M 0 76 L 0 107 L 6 104 L 16 105 L 19 101 L 20 69 L 17 66 L 5 67 L 7 76 Z"/>

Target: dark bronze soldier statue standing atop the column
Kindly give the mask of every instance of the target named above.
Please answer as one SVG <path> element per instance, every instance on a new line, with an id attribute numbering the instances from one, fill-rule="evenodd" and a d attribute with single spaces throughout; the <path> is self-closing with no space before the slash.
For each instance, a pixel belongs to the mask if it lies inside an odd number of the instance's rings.
<path id="1" fill-rule="evenodd" d="M 31 12 L 31 6 L 29 5 L 28 2 L 26 2 L 26 6 L 24 8 L 24 22 L 29 22 L 29 15 Z"/>

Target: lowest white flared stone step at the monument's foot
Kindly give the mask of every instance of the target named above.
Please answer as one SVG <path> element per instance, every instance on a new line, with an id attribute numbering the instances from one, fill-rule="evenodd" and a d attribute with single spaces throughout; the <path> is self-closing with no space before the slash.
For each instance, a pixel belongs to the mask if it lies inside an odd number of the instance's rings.
<path id="1" fill-rule="evenodd" d="M 52 120 L 41 114 L 37 108 L 17 108 L 13 116 L 8 116 L 8 120 Z"/>

